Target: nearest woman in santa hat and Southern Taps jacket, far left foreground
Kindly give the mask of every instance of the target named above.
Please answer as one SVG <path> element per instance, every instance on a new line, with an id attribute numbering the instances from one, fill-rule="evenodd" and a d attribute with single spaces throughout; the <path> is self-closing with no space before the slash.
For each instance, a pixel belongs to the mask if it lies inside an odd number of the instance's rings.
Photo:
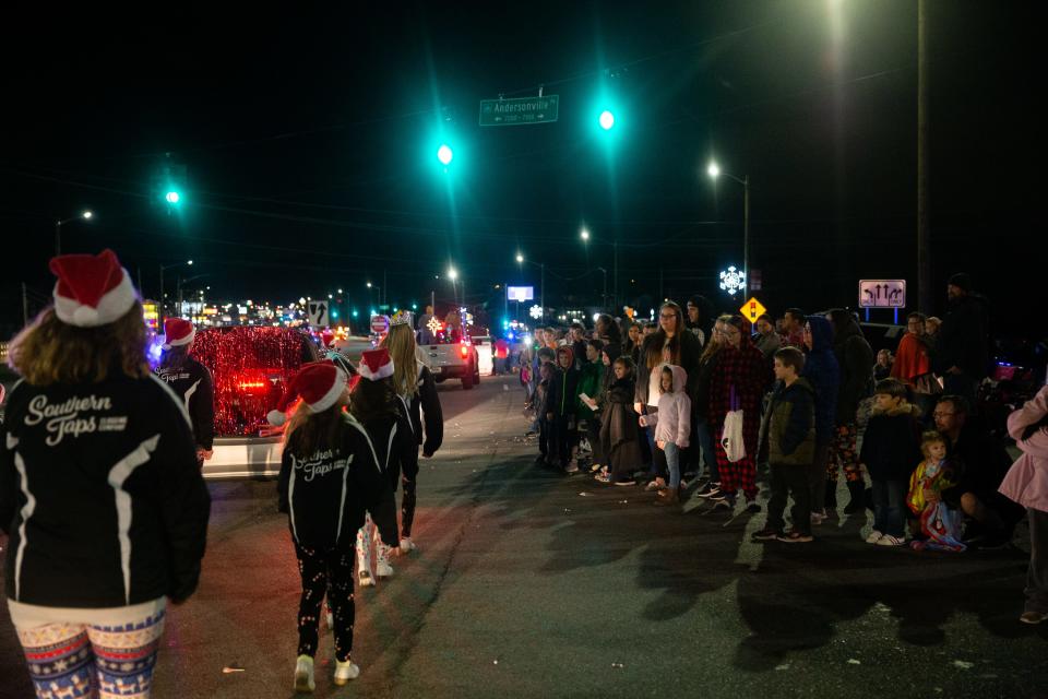
<path id="1" fill-rule="evenodd" d="M 10 347 L 22 380 L 0 427 L 8 608 L 38 697 L 148 697 L 167 601 L 200 579 L 211 498 L 117 256 L 50 269 L 53 306 Z"/>

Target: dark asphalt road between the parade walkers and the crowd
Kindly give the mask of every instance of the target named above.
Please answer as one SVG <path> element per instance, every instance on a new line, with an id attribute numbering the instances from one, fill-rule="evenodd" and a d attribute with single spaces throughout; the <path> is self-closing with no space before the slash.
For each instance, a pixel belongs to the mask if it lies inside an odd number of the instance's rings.
<path id="1" fill-rule="evenodd" d="M 514 379 L 441 387 L 419 552 L 358 591 L 359 679 L 332 685 L 322 640 L 318 696 L 1048 697 L 1048 624 L 1017 621 L 1025 553 L 885 550 L 860 541 L 865 517 L 750 544 L 762 514 L 666 512 L 534 467 L 522 399 Z M 274 488 L 212 484 L 203 579 L 170 611 L 154 697 L 293 696 L 299 587 Z M 5 607 L 0 677 L 29 696 Z"/>

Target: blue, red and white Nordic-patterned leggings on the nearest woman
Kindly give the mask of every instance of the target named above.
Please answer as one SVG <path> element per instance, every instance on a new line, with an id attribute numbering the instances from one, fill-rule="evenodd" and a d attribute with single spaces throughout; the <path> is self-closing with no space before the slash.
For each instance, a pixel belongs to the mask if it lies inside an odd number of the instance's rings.
<path id="1" fill-rule="evenodd" d="M 147 698 L 163 631 L 160 609 L 122 626 L 48 624 L 19 629 L 19 640 L 40 699 Z"/>

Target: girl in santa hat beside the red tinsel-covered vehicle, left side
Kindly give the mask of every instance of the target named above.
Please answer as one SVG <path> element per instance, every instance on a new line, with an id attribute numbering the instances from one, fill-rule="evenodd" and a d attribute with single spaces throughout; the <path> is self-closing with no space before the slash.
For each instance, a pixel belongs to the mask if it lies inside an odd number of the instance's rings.
<path id="1" fill-rule="evenodd" d="M 196 464 L 211 459 L 215 439 L 215 389 L 207 367 L 189 355 L 196 329 L 181 318 L 164 321 L 164 354 L 156 376 L 182 399 L 196 438 Z"/>

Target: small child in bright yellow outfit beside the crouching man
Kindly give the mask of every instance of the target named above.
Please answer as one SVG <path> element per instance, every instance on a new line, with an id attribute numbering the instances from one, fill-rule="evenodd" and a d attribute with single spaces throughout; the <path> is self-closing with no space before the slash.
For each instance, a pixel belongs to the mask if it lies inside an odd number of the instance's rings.
<path id="1" fill-rule="evenodd" d="M 946 507 L 940 494 L 944 488 L 956 485 L 954 473 L 946 461 L 946 440 L 937 433 L 925 433 L 920 440 L 920 451 L 925 460 L 909 476 L 909 497 L 906 505 L 919 519 L 921 541 L 913 541 L 915 550 L 963 552 L 967 546 L 961 543 L 961 521 L 958 510 Z"/>

